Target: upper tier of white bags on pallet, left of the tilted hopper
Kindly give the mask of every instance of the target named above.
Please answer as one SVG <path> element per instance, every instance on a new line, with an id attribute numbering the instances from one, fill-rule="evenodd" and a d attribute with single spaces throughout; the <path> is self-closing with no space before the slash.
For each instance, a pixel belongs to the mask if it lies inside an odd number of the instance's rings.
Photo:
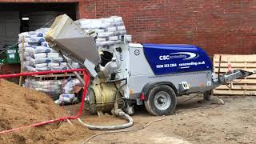
<path id="1" fill-rule="evenodd" d="M 18 47 L 20 58 L 22 59 L 22 39 L 24 38 L 23 70 L 25 71 L 46 71 L 46 70 L 66 70 L 66 62 L 57 51 L 50 48 L 44 36 L 48 28 L 18 34 Z M 79 68 L 77 62 L 72 62 L 74 68 Z"/>

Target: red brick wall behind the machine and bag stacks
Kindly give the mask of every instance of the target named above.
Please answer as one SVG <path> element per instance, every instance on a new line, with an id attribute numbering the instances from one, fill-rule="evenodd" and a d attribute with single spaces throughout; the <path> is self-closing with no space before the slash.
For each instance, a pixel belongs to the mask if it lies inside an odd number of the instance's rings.
<path id="1" fill-rule="evenodd" d="M 134 42 L 186 43 L 208 54 L 256 54 L 256 1 L 85 0 L 81 18 L 122 16 Z"/>

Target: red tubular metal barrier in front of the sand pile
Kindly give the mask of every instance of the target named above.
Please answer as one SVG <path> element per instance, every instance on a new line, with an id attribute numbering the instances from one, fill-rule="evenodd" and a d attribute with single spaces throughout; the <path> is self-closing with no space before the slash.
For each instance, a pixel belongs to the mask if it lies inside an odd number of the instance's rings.
<path id="1" fill-rule="evenodd" d="M 82 109 L 83 109 L 83 105 L 84 105 L 84 102 L 85 102 L 84 99 L 86 98 L 87 87 L 90 84 L 90 74 L 85 69 L 73 69 L 73 70 L 50 70 L 50 71 L 42 71 L 42 72 L 28 72 L 28 73 L 22 73 L 22 74 L 3 74 L 3 75 L 0 75 L 0 78 L 14 78 L 14 77 L 20 77 L 20 76 L 33 76 L 35 74 L 39 74 L 39 75 L 40 74 L 56 74 L 56 73 L 67 73 L 67 72 L 74 72 L 74 71 L 81 71 L 83 73 L 84 81 L 85 81 L 85 84 L 86 84 L 84 86 L 84 90 L 83 90 L 83 93 L 82 93 L 81 106 L 80 106 L 78 114 L 76 116 L 62 117 L 62 118 L 49 120 L 49 121 L 46 121 L 46 122 L 39 122 L 39 123 L 31 124 L 31 125 L 28 125 L 28 126 L 20 126 L 18 128 L 14 128 L 14 129 L 10 129 L 10 130 L 3 130 L 3 131 L 0 132 L 0 134 L 7 134 L 7 133 L 10 133 L 10 132 L 22 130 L 26 127 L 42 126 L 42 125 L 46 125 L 46 124 L 53 123 L 53 122 L 62 122 L 62 121 L 65 121 L 66 119 L 79 118 L 82 114 Z"/>

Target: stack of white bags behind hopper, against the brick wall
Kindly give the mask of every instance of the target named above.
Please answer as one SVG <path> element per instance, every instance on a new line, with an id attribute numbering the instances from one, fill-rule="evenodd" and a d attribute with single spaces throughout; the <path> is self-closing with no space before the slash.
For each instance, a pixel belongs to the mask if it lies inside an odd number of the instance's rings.
<path id="1" fill-rule="evenodd" d="M 99 19 L 80 19 L 76 23 L 86 33 L 90 33 L 90 31 L 97 33 L 96 45 L 99 49 L 109 48 L 109 46 L 123 43 L 122 37 L 127 33 L 122 17 L 118 16 Z"/>

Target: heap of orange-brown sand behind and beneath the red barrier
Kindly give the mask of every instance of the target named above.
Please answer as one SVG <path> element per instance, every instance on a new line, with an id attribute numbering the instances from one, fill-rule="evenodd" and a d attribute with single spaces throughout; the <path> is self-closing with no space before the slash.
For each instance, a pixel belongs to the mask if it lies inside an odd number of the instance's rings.
<path id="1" fill-rule="evenodd" d="M 55 104 L 46 94 L 0 79 L 0 131 L 44 122 L 62 115 L 66 115 L 63 114 L 62 107 Z M 78 136 L 91 134 L 90 130 L 77 122 L 73 123 L 74 126 L 67 122 L 55 122 L 2 134 L 0 143 L 74 142 Z"/>

